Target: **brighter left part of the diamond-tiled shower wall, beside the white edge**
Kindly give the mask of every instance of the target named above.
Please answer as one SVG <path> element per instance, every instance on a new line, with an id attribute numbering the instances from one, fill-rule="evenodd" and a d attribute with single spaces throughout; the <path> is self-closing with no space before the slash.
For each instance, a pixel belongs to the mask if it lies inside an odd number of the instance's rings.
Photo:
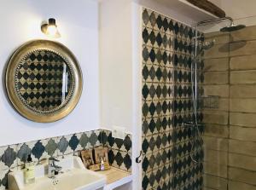
<path id="1" fill-rule="evenodd" d="M 172 20 L 143 10 L 143 189 L 170 189 Z"/>

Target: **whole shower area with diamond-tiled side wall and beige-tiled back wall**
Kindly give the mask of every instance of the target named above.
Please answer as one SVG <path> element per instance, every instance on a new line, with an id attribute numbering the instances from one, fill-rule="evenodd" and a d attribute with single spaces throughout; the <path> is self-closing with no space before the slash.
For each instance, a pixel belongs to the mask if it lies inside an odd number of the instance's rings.
<path id="1" fill-rule="evenodd" d="M 253 20 L 143 9 L 143 189 L 256 189 Z"/>

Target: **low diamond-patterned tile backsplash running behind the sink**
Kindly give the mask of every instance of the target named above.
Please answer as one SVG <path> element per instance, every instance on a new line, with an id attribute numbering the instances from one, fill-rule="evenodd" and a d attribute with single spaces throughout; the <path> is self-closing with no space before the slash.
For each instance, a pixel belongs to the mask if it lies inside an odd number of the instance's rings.
<path id="1" fill-rule="evenodd" d="M 100 145 L 109 148 L 109 163 L 113 167 L 131 171 L 131 135 L 121 140 L 113 138 L 109 130 L 92 130 L 0 147 L 0 190 L 8 187 L 9 171 L 21 168 L 28 154 L 40 163 L 51 156 L 78 155 L 81 150 Z"/>

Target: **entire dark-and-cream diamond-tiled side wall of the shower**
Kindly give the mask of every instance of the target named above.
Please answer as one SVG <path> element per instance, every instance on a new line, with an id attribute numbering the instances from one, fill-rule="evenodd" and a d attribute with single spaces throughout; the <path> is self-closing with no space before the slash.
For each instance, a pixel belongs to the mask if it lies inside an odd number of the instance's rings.
<path id="1" fill-rule="evenodd" d="M 143 189 L 201 188 L 201 164 L 189 157 L 194 141 L 192 37 L 195 31 L 143 9 Z M 203 67 L 200 62 L 199 70 Z M 203 75 L 201 76 L 203 82 Z M 202 88 L 199 89 L 203 93 Z M 197 117 L 201 121 L 202 114 Z M 195 148 L 201 157 L 201 146 Z"/>

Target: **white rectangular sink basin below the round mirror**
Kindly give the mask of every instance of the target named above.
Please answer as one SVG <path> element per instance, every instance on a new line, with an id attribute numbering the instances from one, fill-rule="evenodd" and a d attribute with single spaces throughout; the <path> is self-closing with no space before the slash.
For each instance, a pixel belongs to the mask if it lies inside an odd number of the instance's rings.
<path id="1" fill-rule="evenodd" d="M 106 176 L 85 169 L 79 157 L 63 158 L 56 164 L 62 170 L 54 179 L 47 176 L 48 164 L 37 165 L 32 184 L 25 184 L 24 170 L 9 173 L 9 190 L 102 190 L 106 184 Z"/>

